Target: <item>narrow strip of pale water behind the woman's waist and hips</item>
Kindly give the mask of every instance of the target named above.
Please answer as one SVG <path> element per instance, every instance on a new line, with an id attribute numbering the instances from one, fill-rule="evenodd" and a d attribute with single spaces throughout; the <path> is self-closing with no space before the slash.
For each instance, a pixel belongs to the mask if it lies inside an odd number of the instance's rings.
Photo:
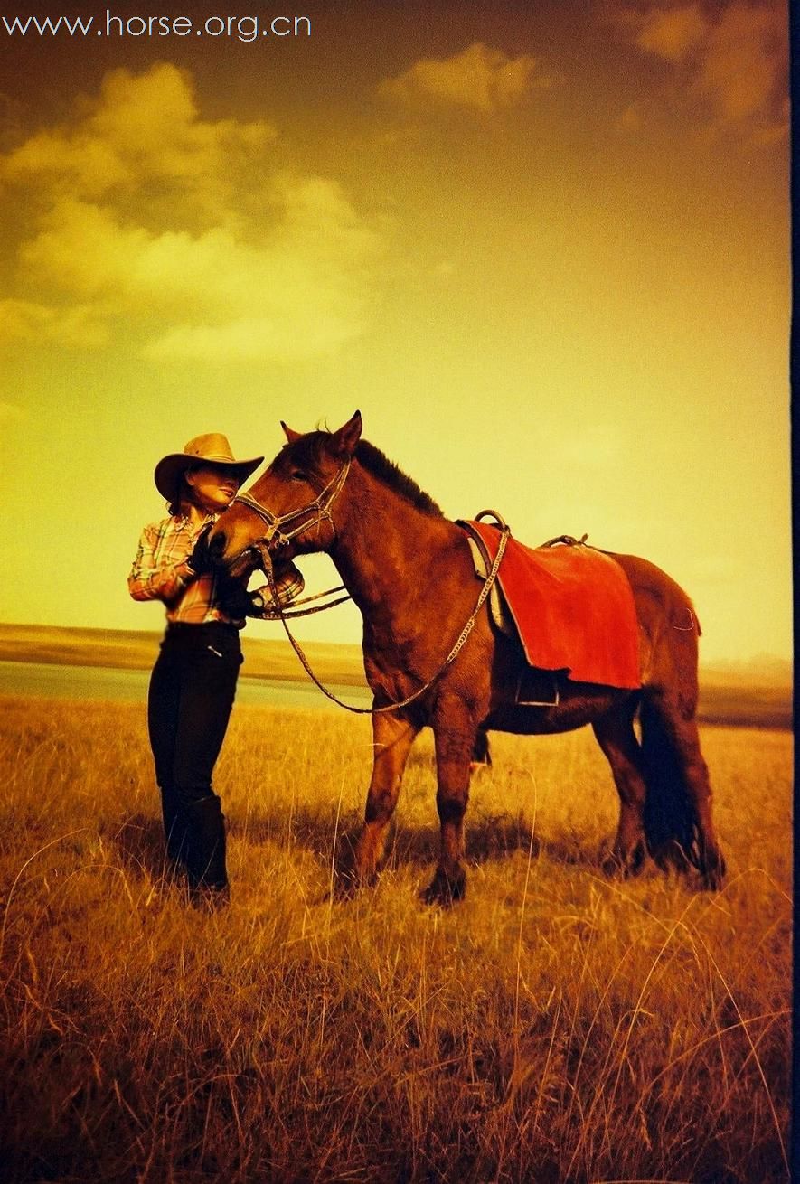
<path id="1" fill-rule="evenodd" d="M 149 670 L 117 670 L 110 667 L 59 665 L 47 662 L 0 662 L 0 695 L 41 699 L 111 699 L 146 702 Z M 363 687 L 331 683 L 328 688 L 346 703 L 368 707 L 370 693 Z M 311 682 L 252 678 L 241 675 L 238 703 L 272 707 L 314 707 L 341 710 Z"/>

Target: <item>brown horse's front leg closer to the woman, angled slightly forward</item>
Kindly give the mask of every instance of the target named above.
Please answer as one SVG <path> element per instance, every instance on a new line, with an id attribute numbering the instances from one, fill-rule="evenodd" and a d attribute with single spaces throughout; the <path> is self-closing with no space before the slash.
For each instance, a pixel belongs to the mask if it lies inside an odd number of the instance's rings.
<path id="1" fill-rule="evenodd" d="M 383 857 L 386 832 L 400 794 L 406 760 L 419 728 L 394 712 L 373 715 L 373 776 L 364 824 L 355 848 L 355 879 L 370 883 Z"/>

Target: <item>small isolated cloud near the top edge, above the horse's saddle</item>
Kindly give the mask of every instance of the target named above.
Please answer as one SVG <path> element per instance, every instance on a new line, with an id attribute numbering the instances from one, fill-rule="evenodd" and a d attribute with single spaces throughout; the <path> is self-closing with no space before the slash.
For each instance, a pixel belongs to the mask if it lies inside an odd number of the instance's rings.
<path id="1" fill-rule="evenodd" d="M 450 58 L 422 58 L 405 73 L 381 83 L 380 92 L 405 103 L 438 103 L 492 112 L 516 107 L 553 78 L 538 58 L 509 58 L 476 43 Z"/>

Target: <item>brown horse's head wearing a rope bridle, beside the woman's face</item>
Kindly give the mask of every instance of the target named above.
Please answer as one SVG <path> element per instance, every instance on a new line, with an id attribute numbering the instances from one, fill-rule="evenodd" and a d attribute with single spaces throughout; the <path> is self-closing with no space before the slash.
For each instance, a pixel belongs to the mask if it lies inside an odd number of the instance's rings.
<path id="1" fill-rule="evenodd" d="M 209 535 L 212 555 L 239 574 L 256 545 L 282 559 L 327 551 L 335 535 L 336 501 L 361 438 L 361 413 L 337 432 L 293 432 L 245 494 L 239 494 Z"/>

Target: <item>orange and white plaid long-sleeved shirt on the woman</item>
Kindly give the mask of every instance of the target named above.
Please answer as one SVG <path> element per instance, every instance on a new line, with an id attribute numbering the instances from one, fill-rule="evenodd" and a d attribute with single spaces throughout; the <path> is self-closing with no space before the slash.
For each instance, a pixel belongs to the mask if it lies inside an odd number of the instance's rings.
<path id="1" fill-rule="evenodd" d="M 202 625 L 209 620 L 224 620 L 244 624 L 228 617 L 217 604 L 215 573 L 195 575 L 186 562 L 204 526 L 215 522 L 218 517 L 219 514 L 208 514 L 194 528 L 181 515 L 146 526 L 128 577 L 128 590 L 134 600 L 162 600 L 169 622 Z M 276 575 L 276 584 L 282 605 L 290 604 L 304 587 L 303 577 L 293 565 Z M 272 604 L 269 585 L 258 591 L 264 597 L 265 611 L 269 611 Z"/>

